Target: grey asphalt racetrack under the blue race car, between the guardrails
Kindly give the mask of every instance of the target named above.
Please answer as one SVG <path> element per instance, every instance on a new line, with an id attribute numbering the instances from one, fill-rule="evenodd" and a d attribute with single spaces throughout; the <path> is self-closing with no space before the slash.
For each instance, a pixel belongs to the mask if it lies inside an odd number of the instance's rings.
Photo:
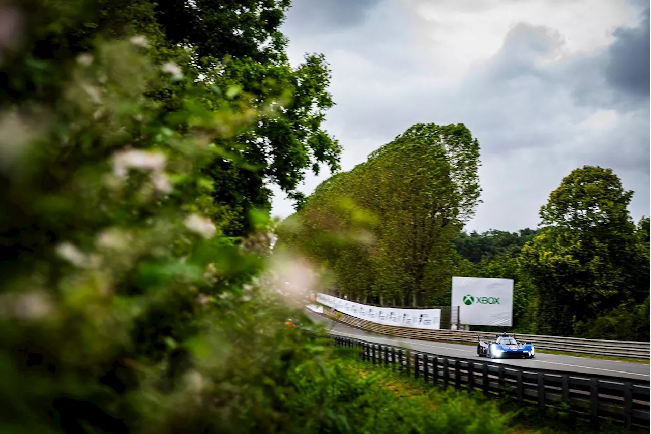
<path id="1" fill-rule="evenodd" d="M 555 371 L 566 371 L 572 373 L 584 373 L 595 375 L 609 375 L 612 377 L 630 378 L 637 381 L 646 380 L 651 382 L 651 364 L 619 362 L 615 360 L 588 359 L 586 357 L 574 357 L 553 354 L 536 353 L 533 360 L 527 359 L 487 359 L 477 356 L 477 347 L 460 344 L 445 344 L 443 342 L 430 342 L 426 340 L 415 340 L 407 338 L 394 338 L 384 334 L 377 334 L 361 329 L 355 329 L 348 325 L 333 321 L 325 316 L 306 311 L 307 315 L 314 321 L 324 323 L 332 334 L 339 334 L 348 338 L 375 342 L 376 344 L 393 345 L 449 357 L 461 357 L 464 359 L 477 359 L 481 361 L 490 360 L 491 363 L 503 363 L 511 366 L 522 366 L 525 368 L 547 369 Z M 533 343 L 534 347 L 536 342 Z"/>

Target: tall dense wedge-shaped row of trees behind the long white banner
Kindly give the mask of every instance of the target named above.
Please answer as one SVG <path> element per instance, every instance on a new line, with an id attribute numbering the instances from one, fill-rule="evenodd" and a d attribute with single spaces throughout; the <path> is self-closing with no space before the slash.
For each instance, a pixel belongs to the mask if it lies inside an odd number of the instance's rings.
<path id="1" fill-rule="evenodd" d="M 298 249 L 358 301 L 449 303 L 452 240 L 478 203 L 478 158 L 462 124 L 412 126 L 320 185 L 278 228 L 277 249 Z"/>

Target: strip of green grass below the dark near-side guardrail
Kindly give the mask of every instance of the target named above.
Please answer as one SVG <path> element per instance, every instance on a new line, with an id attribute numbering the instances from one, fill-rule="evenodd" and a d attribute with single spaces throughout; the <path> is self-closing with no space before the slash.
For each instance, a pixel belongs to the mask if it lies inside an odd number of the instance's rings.
<path id="1" fill-rule="evenodd" d="M 402 408 L 409 408 L 415 414 L 436 414 L 439 419 L 456 421 L 456 430 L 451 432 L 491 432 L 497 430 L 506 434 L 588 434 L 594 429 L 588 422 L 577 420 L 563 411 L 537 407 L 519 407 L 513 400 L 491 400 L 479 392 L 444 390 L 441 387 L 426 385 L 406 373 L 395 372 L 391 368 L 363 362 L 350 349 L 340 349 L 338 358 L 348 369 L 365 380 L 371 380 L 393 400 L 402 401 Z M 392 401 L 391 399 L 389 401 Z M 471 416 L 471 417 L 469 417 Z M 494 424 L 479 429 L 473 419 L 492 418 Z M 475 429 L 478 429 L 475 431 Z M 438 432 L 445 432 L 438 431 Z M 648 433 L 646 431 L 626 430 L 622 426 L 602 426 L 602 434 Z"/>

